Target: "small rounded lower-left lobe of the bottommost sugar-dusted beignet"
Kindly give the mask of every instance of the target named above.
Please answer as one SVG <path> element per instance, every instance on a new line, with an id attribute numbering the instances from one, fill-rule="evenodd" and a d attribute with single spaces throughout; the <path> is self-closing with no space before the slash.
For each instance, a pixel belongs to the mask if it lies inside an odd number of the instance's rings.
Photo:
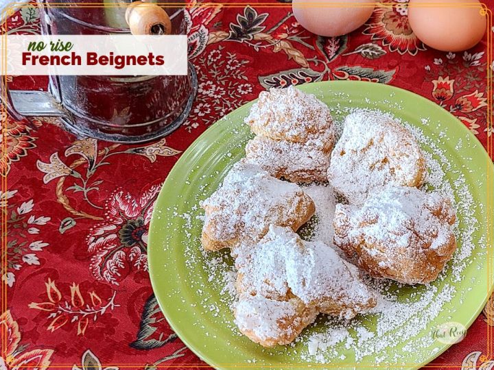
<path id="1" fill-rule="evenodd" d="M 242 334 L 263 347 L 274 347 L 292 343 L 318 312 L 297 297 L 279 301 L 246 294 L 240 296 L 234 314 Z"/>

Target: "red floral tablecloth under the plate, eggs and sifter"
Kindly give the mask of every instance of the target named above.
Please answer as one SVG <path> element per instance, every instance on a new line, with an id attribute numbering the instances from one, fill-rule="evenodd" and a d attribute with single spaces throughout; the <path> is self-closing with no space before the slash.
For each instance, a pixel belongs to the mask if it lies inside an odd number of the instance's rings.
<path id="1" fill-rule="evenodd" d="M 309 34 L 290 8 L 191 8 L 198 96 L 185 125 L 153 143 L 78 140 L 58 119 L 30 127 L 9 117 L 0 162 L 8 260 L 1 271 L 7 310 L 0 324 L 8 338 L 0 369 L 205 366 L 169 328 L 152 293 L 150 212 L 180 153 L 261 90 L 327 79 L 392 84 L 443 106 L 485 146 L 493 134 L 486 123 L 486 42 L 464 53 L 428 49 L 410 30 L 407 0 L 396 4 L 377 8 L 366 25 L 338 38 Z M 36 8 L 11 16 L 2 31 L 38 33 Z M 44 77 L 9 79 L 13 88 L 47 84 Z M 493 314 L 491 297 L 467 337 L 434 364 L 492 369 L 486 341 Z"/>

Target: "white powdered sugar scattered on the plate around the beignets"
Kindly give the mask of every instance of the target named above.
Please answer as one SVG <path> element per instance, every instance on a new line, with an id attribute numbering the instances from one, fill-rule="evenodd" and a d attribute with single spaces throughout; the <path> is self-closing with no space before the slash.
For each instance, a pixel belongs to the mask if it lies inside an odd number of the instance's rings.
<path id="1" fill-rule="evenodd" d="M 339 110 L 339 114 L 348 114 L 354 109 L 333 107 Z M 387 114 L 379 112 L 381 114 Z M 387 114 L 389 115 L 389 114 Z M 392 117 L 395 121 L 399 121 Z M 400 122 L 400 121 L 399 121 Z M 366 277 L 368 286 L 378 295 L 378 304 L 371 314 L 357 316 L 351 321 L 339 320 L 320 315 L 318 320 L 308 329 L 298 336 L 295 343 L 289 347 L 290 353 L 294 354 L 293 361 L 300 362 L 301 358 L 307 362 L 330 363 L 333 361 L 354 360 L 360 362 L 366 356 L 375 356 L 374 362 L 403 362 L 410 352 L 419 351 L 421 348 L 431 347 L 434 344 L 432 335 L 419 336 L 423 330 L 430 328 L 430 322 L 443 312 L 443 307 L 447 302 L 458 294 L 455 287 L 456 282 L 462 280 L 462 271 L 468 264 L 473 262 L 469 258 L 475 247 L 485 248 L 484 245 L 474 245 L 473 233 L 478 228 L 478 221 L 474 217 L 475 209 L 478 207 L 473 202 L 467 186 L 467 179 L 463 173 L 455 173 L 457 177 L 454 182 L 449 179 L 447 173 L 452 171 L 451 164 L 447 159 L 445 151 L 436 145 L 437 140 L 447 140 L 447 138 L 431 138 L 424 134 L 421 128 L 401 122 L 416 138 L 419 145 L 425 149 L 429 174 L 425 184 L 426 189 L 434 189 L 439 193 L 453 200 L 453 206 L 458 215 L 458 221 L 454 225 L 454 232 L 458 240 L 458 249 L 453 259 L 445 267 L 438 280 L 434 284 L 425 286 L 405 286 L 390 282 L 389 280 L 375 280 Z M 427 119 L 422 120 L 422 127 L 432 125 Z M 341 121 L 336 121 L 337 131 L 341 132 Z M 339 126 L 338 126 L 339 125 Z M 458 144 L 460 145 L 460 144 Z M 238 148 L 237 148 L 238 149 Z M 230 165 L 233 161 L 231 156 L 225 158 L 225 163 Z M 200 171 L 200 169 L 197 169 Z M 211 174 L 211 182 L 217 173 Z M 215 189 L 207 186 L 199 189 L 201 199 L 207 197 Z M 305 192 L 314 200 L 316 204 L 316 215 L 303 226 L 301 236 L 307 240 L 322 240 L 328 243 L 333 238 L 332 217 L 336 202 L 333 190 L 327 185 L 312 184 L 304 188 Z M 197 214 L 199 199 L 197 204 L 191 206 L 191 214 Z M 205 271 L 209 276 L 208 286 L 203 282 L 193 281 L 194 286 L 200 286 L 196 292 L 204 312 L 212 312 L 213 317 L 220 314 L 220 306 L 231 307 L 236 297 L 235 291 L 235 267 L 233 260 L 224 253 L 210 254 L 203 251 L 199 243 L 200 228 L 202 227 L 202 217 L 192 217 L 191 214 L 178 214 L 176 217 L 183 219 L 183 232 L 187 236 L 184 242 L 186 264 L 193 279 L 194 271 Z M 460 227 L 461 222 L 461 227 Z M 331 243 L 332 244 L 332 243 Z M 447 272 L 451 277 L 447 277 Z M 473 282 L 472 282 L 473 283 Z M 214 296 L 207 293 L 207 289 L 214 291 Z M 400 297 L 400 292 L 405 292 Z M 176 292 L 177 295 L 180 292 Z M 224 309 L 224 308 L 223 308 Z M 455 310 L 452 308 L 451 310 Z M 451 312 L 449 310 L 449 312 Z M 371 323 L 368 317 L 373 317 L 375 323 Z M 199 323 L 200 321 L 198 321 Z M 199 325 L 194 323 L 194 325 Z M 234 336 L 241 335 L 231 321 L 224 321 L 221 325 L 226 325 L 231 329 Z M 215 336 L 213 333 L 206 335 Z M 406 343 L 402 347 L 403 343 Z M 438 350 L 438 348 L 433 349 Z M 286 349 L 263 349 L 259 346 L 259 351 L 264 351 L 268 355 L 287 354 Z M 350 358 L 350 356 L 352 358 Z M 290 360 L 290 358 L 288 358 Z M 419 357 L 417 357 L 419 360 Z M 252 358 L 248 362 L 257 362 L 259 359 Z"/>

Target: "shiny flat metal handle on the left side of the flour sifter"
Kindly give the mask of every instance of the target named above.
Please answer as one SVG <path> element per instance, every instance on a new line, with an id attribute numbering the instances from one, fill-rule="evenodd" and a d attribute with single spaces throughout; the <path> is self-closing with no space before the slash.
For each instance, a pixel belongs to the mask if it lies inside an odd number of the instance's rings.
<path id="1" fill-rule="evenodd" d="M 18 121 L 29 117 L 63 117 L 69 119 L 69 113 L 62 104 L 47 91 L 9 90 L 5 76 L 1 77 L 1 101 L 8 114 Z"/>

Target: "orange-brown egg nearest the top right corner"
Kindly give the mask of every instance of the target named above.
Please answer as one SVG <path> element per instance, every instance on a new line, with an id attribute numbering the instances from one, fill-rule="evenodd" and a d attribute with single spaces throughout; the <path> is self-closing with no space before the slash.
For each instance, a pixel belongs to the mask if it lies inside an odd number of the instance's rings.
<path id="1" fill-rule="evenodd" d="M 410 0 L 408 21 L 425 45 L 441 51 L 462 51 L 475 46 L 486 30 L 486 16 L 478 0 L 434 0 L 448 6 L 430 6 L 431 0 Z M 471 5 L 478 5 L 471 8 Z M 460 5 L 462 4 L 462 5 Z"/>

